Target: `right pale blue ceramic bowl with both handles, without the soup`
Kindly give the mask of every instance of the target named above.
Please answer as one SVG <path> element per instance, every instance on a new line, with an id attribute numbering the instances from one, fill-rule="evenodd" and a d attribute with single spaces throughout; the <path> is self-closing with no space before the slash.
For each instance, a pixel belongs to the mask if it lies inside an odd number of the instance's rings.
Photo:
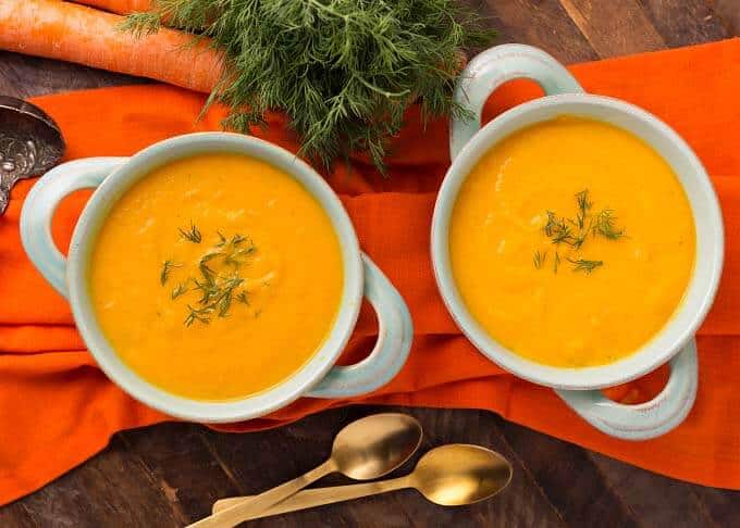
<path id="1" fill-rule="evenodd" d="M 481 111 L 489 96 L 503 83 L 521 77 L 538 81 L 547 97 L 516 106 L 481 127 Z M 440 189 L 432 222 L 434 274 L 453 318 L 481 353 L 521 378 L 557 389 L 568 405 L 602 431 L 640 440 L 673 429 L 683 420 L 694 402 L 698 370 L 693 336 L 714 301 L 724 260 L 719 204 L 701 162 L 686 141 L 657 117 L 617 99 L 584 93 L 555 59 L 528 46 L 498 46 L 474 58 L 460 75 L 455 98 L 477 120 L 452 122 L 454 161 Z M 670 322 L 632 355 L 608 365 L 585 368 L 534 363 L 503 347 L 468 311 L 449 263 L 449 218 L 460 186 L 472 167 L 496 142 L 513 133 L 564 114 L 610 123 L 652 146 L 678 176 L 696 227 L 693 276 L 684 301 Z M 538 329 L 532 328 L 532 331 Z M 557 348 L 558 343 L 553 342 L 553 347 Z M 621 405 L 596 390 L 638 378 L 666 362 L 670 362 L 670 379 L 664 391 L 650 402 Z"/>

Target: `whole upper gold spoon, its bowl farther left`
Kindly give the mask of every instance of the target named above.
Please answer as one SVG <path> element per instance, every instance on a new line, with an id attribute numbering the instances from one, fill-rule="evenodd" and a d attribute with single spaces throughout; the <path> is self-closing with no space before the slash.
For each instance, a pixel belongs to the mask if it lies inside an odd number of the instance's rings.
<path id="1" fill-rule="evenodd" d="M 235 526 L 330 473 L 340 472 L 356 480 L 382 477 L 419 449 L 421 435 L 421 425 L 406 414 L 374 414 L 353 422 L 340 431 L 331 456 L 317 468 L 249 500 L 243 499 L 190 527 Z"/>

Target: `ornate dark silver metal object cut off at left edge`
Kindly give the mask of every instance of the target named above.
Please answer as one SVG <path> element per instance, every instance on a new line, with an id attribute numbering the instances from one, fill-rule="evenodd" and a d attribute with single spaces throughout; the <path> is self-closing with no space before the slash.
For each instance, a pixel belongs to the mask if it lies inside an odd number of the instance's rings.
<path id="1" fill-rule="evenodd" d="M 15 183 L 53 167 L 64 147 L 59 126 L 46 112 L 21 99 L 0 96 L 0 215 Z"/>

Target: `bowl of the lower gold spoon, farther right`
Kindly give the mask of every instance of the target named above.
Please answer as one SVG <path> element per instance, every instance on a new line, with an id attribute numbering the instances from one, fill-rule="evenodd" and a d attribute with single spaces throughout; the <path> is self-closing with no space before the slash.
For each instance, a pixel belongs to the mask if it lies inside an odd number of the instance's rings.
<path id="1" fill-rule="evenodd" d="M 411 487 L 441 506 L 489 499 L 511 481 L 511 465 L 480 445 L 452 443 L 427 452 L 410 475 Z"/>

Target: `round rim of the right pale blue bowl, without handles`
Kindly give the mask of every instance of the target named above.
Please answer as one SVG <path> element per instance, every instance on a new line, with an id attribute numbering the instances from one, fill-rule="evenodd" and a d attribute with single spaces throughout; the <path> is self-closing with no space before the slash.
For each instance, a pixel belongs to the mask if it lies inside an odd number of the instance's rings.
<path id="1" fill-rule="evenodd" d="M 448 257 L 449 219 L 460 186 L 472 166 L 497 141 L 514 131 L 535 123 L 550 121 L 557 115 L 578 115 L 577 111 L 565 111 L 563 110 L 565 108 L 582 110 L 584 111 L 584 116 L 595 120 L 600 120 L 600 117 L 591 115 L 585 111 L 595 113 L 600 109 L 606 109 L 606 111 L 613 112 L 615 115 L 624 115 L 637 120 L 636 122 L 645 125 L 646 129 L 651 129 L 661 138 L 667 140 L 676 152 L 683 156 L 689 173 L 702 191 L 702 197 L 692 196 L 684 184 L 680 181 L 680 178 L 678 178 L 689 199 L 696 228 L 694 271 L 687 286 L 684 300 L 677 307 L 668 323 L 648 343 L 632 354 L 614 363 L 580 368 L 555 367 L 536 363 L 516 354 L 496 342 L 495 339 L 482 329 L 461 301 L 454 282 Z M 626 129 L 628 133 L 639 137 L 658 152 L 671 165 L 671 168 L 676 171 L 671 160 L 663 155 L 652 141 L 646 140 L 633 130 L 627 129 L 626 126 L 614 123 L 609 118 L 602 117 L 601 121 Z M 703 200 L 707 206 L 707 211 L 703 213 L 701 222 L 707 224 L 713 234 L 711 240 L 702 240 L 701 248 L 707 251 L 701 253 L 699 222 L 694 211 L 694 202 L 699 200 Z M 431 257 L 434 278 L 447 311 L 462 334 L 483 355 L 505 370 L 538 385 L 567 390 L 601 389 L 630 381 L 655 369 L 670 360 L 693 338 L 696 329 L 706 317 L 719 286 L 724 262 L 724 225 L 719 202 L 706 171 L 693 150 L 673 128 L 650 112 L 619 99 L 592 93 L 560 93 L 534 99 L 507 110 L 482 126 L 460 150 L 445 175 L 434 204 L 431 228 Z M 698 271 L 700 257 L 702 259 L 702 274 L 706 272 L 701 277 Z M 695 293 L 700 279 L 704 284 L 700 296 L 701 299 L 696 302 L 688 302 L 690 299 L 689 294 L 693 296 Z M 677 326 L 679 322 L 682 323 L 682 327 Z"/>

